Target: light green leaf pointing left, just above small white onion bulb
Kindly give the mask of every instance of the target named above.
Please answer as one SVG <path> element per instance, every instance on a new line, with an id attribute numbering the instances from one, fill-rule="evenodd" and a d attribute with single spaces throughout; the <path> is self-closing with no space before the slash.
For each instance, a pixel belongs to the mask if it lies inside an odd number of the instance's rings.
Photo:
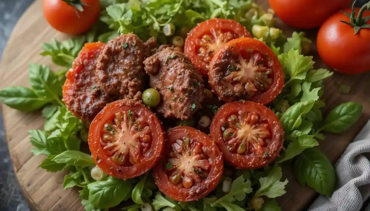
<path id="1" fill-rule="evenodd" d="M 53 161 L 57 163 L 65 163 L 67 165 L 81 167 L 88 167 L 95 164 L 94 160 L 91 158 L 91 155 L 73 150 L 68 150 L 60 153 L 59 155 L 55 156 Z"/>

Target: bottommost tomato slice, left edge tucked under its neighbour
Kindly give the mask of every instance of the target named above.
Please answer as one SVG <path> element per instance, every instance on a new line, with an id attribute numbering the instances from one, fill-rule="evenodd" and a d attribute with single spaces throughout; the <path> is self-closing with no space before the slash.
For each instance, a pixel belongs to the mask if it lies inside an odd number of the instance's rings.
<path id="1" fill-rule="evenodd" d="M 163 158 L 153 177 L 166 196 L 195 201 L 217 186 L 222 173 L 222 155 L 213 140 L 197 129 L 179 126 L 167 132 Z"/>

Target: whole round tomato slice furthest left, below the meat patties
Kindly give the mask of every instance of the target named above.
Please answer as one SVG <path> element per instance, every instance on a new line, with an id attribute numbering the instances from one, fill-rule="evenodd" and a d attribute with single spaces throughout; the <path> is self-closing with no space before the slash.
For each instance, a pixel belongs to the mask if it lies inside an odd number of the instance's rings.
<path id="1" fill-rule="evenodd" d="M 117 100 L 92 121 L 88 142 L 97 166 L 110 176 L 129 179 L 157 163 L 164 132 L 148 108 L 131 100 Z"/>

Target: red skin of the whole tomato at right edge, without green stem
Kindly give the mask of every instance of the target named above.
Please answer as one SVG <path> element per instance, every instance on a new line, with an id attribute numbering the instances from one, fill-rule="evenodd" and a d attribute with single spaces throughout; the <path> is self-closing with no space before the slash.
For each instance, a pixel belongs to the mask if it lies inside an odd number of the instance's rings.
<path id="1" fill-rule="evenodd" d="M 351 14 L 351 9 L 346 10 Z M 356 8 L 356 15 L 359 8 Z M 366 10 L 363 17 L 369 16 Z M 356 35 L 350 25 L 340 22 L 350 19 L 338 12 L 330 17 L 317 33 L 317 51 L 322 60 L 337 72 L 364 73 L 370 70 L 370 28 L 362 28 Z M 367 20 L 366 24 L 370 24 Z"/>

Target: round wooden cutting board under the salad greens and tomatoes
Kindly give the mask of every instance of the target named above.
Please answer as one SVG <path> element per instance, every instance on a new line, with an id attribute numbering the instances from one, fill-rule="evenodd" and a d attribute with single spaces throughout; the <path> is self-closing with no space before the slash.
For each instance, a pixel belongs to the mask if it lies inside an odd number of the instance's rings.
<path id="1" fill-rule="evenodd" d="M 257 2 L 265 9 L 268 8 L 266 0 Z M 281 28 L 287 36 L 295 30 L 284 25 L 280 20 L 277 20 L 277 27 Z M 309 31 L 308 35 L 314 41 L 316 31 Z M 42 1 L 37 0 L 23 14 L 11 34 L 0 64 L 0 89 L 6 86 L 29 86 L 28 63 L 30 62 L 45 64 L 53 70 L 58 70 L 49 57 L 40 56 L 40 43 L 50 42 L 53 37 L 61 40 L 67 38 L 67 35 L 53 30 L 46 23 L 42 14 Z M 315 42 L 311 47 L 317 62 L 316 68 L 326 68 L 317 55 Z M 327 135 L 327 138 L 320 142 L 320 148 L 332 163 L 336 162 L 370 118 L 369 81 L 370 73 L 357 76 L 335 73 L 326 82 L 324 101 L 327 107 L 324 108 L 324 113 L 346 101 L 363 104 L 363 115 L 351 129 L 339 135 Z M 349 94 L 343 95 L 337 91 L 337 86 L 341 83 L 351 86 Z M 30 152 L 33 146 L 28 139 L 27 131 L 43 127 L 44 119 L 40 113 L 22 113 L 5 105 L 2 108 L 14 171 L 31 208 L 37 211 L 83 211 L 77 188 L 63 190 L 65 173 L 48 173 L 39 168 L 38 165 L 44 156 L 34 156 Z M 279 198 L 283 211 L 306 210 L 316 196 L 315 192 L 299 186 L 290 167 L 284 168 L 284 175 L 289 183 L 286 188 L 287 194 Z"/>

